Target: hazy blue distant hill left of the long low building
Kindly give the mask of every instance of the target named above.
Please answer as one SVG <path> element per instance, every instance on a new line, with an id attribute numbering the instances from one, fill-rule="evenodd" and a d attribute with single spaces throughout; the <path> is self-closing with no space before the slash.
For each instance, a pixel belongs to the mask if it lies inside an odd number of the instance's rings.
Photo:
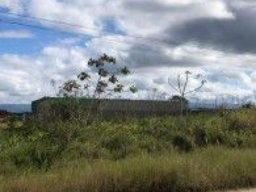
<path id="1" fill-rule="evenodd" d="M 11 113 L 31 112 L 31 104 L 0 104 L 0 110 Z"/>

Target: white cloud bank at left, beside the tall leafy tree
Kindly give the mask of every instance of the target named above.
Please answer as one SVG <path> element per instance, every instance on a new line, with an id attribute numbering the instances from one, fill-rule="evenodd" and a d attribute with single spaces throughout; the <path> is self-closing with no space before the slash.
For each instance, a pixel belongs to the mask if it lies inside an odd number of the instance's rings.
<path id="1" fill-rule="evenodd" d="M 0 56 L 0 89 L 5 92 L 3 103 L 31 102 L 52 94 L 50 79 L 58 85 L 76 78 L 74 69 L 82 69 L 85 57 L 79 48 L 45 48 L 39 56 Z M 85 66 L 85 65 L 84 65 Z M 12 95 L 18 95 L 14 97 Z"/>

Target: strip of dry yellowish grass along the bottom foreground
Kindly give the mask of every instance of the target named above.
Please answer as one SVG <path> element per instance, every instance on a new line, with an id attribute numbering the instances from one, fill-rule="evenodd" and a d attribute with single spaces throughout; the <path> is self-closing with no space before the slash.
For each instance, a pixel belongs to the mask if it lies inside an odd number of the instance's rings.
<path id="1" fill-rule="evenodd" d="M 208 191 L 256 185 L 256 150 L 223 147 L 188 154 L 84 158 L 58 163 L 46 174 L 0 180 L 2 192 Z"/>

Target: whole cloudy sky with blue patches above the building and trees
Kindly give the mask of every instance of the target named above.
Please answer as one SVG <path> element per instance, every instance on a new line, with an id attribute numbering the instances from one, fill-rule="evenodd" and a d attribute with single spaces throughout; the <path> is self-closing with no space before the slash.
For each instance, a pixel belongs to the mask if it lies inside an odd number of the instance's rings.
<path id="1" fill-rule="evenodd" d="M 187 91 L 207 82 L 188 99 L 255 100 L 255 19 L 255 0 L 0 0 L 0 103 L 56 96 L 81 71 L 96 83 L 87 61 L 104 52 L 132 71 L 126 98 L 178 94 L 168 78 L 189 70 Z"/>

